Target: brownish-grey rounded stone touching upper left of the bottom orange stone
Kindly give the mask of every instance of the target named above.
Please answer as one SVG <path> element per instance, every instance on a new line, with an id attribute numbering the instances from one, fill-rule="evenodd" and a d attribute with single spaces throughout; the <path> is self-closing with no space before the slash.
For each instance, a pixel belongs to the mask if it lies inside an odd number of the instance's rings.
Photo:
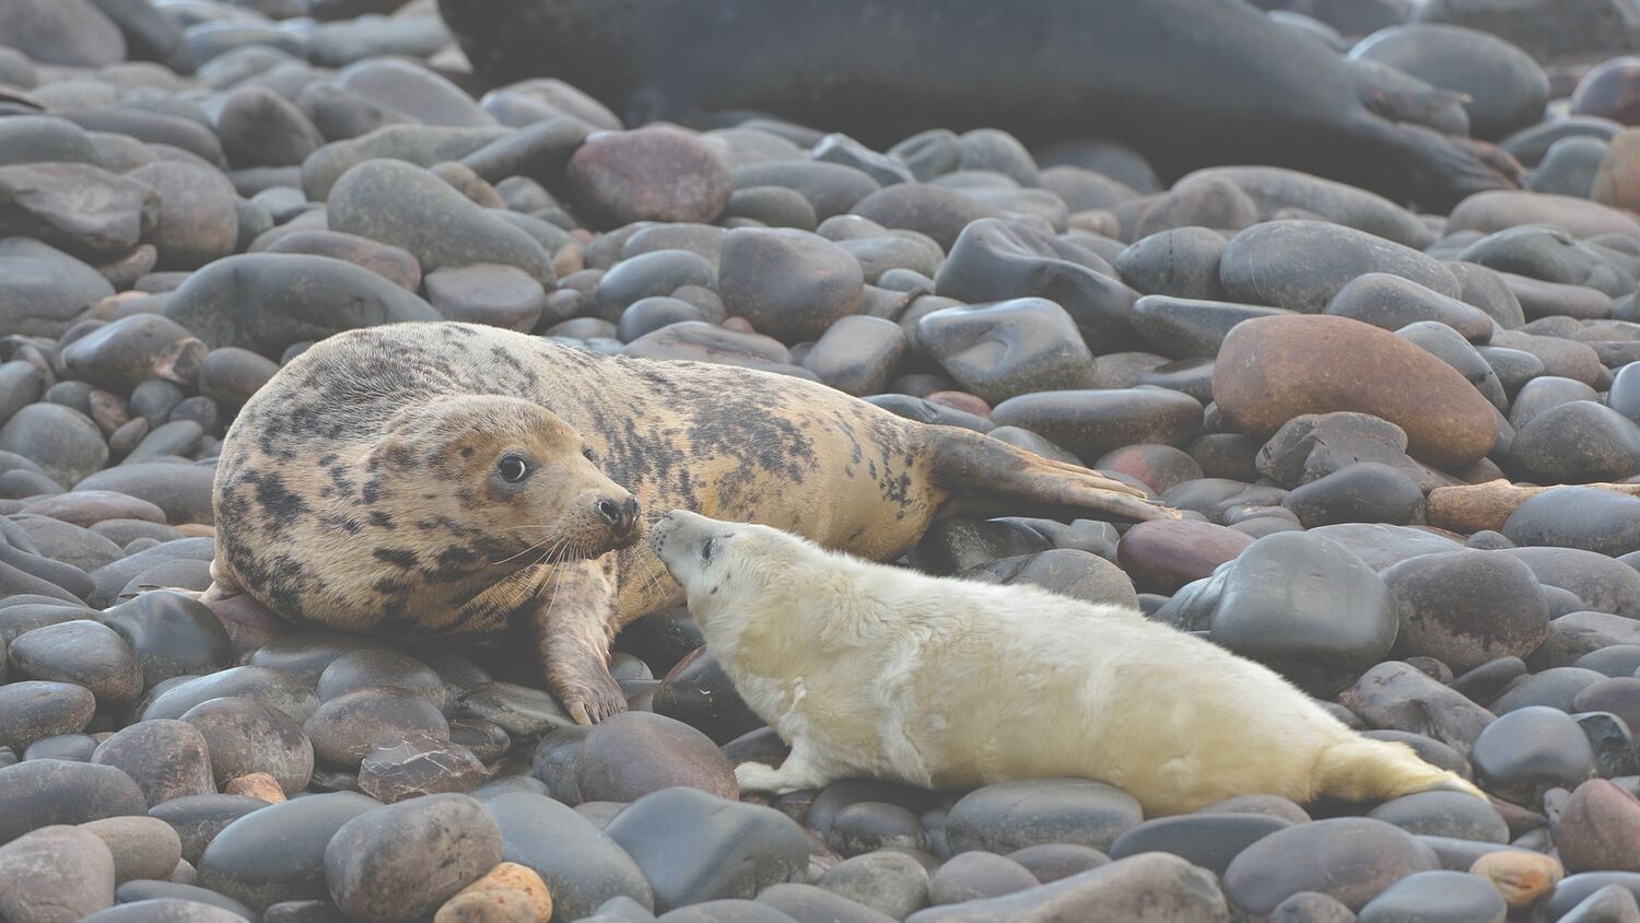
<path id="1" fill-rule="evenodd" d="M 218 838 L 220 841 L 220 838 Z M 353 920 L 415 920 L 502 861 L 484 802 L 426 795 L 348 820 L 325 848 L 325 880 Z"/>

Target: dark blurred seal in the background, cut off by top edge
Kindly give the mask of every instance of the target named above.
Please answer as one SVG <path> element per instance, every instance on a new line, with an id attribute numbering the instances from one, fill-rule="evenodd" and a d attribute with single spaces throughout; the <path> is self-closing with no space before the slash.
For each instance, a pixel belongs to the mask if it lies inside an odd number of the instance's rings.
<path id="1" fill-rule="evenodd" d="M 495 82 L 559 77 L 626 118 L 735 110 L 866 144 L 1002 128 L 1104 138 L 1164 179 L 1284 166 L 1425 208 L 1517 185 L 1468 138 L 1405 125 L 1451 103 L 1353 69 L 1243 0 L 441 0 Z"/>

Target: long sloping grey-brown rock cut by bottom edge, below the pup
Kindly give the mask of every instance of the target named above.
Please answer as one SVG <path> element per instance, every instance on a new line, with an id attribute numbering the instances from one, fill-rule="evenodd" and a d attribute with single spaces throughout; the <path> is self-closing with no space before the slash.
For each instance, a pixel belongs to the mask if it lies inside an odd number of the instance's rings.
<path id="1" fill-rule="evenodd" d="M 1212 875 L 1164 854 L 1133 856 L 1053 884 L 989 900 L 933 907 L 907 923 L 1048 923 L 1051 920 L 1174 920 L 1219 923 L 1230 918 Z"/>

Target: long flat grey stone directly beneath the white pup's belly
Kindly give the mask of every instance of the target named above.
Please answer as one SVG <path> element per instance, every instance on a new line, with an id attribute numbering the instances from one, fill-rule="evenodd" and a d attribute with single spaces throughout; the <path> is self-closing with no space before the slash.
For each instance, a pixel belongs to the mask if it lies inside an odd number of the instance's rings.
<path id="1" fill-rule="evenodd" d="M 1138 802 L 1120 789 L 1084 779 L 1028 779 L 964 795 L 951 807 L 946 839 L 953 853 L 1009 853 L 1041 843 L 1109 849 L 1138 823 Z"/>

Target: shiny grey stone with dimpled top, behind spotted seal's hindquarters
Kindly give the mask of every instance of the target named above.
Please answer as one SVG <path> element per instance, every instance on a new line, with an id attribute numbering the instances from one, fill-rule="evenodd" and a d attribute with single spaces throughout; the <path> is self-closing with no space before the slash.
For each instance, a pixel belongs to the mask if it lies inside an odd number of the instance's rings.
<path id="1" fill-rule="evenodd" d="M 1046 298 L 936 310 L 915 330 L 917 344 L 987 403 L 1094 387 L 1094 357 L 1076 323 Z"/>

